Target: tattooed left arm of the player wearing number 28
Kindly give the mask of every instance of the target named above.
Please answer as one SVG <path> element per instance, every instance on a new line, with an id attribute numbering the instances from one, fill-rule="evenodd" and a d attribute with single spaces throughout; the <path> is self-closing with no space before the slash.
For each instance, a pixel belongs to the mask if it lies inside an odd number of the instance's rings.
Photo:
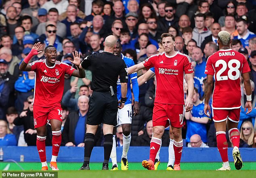
<path id="1" fill-rule="evenodd" d="M 204 89 L 204 113 L 210 117 L 209 113 L 211 113 L 209 98 L 212 93 L 212 85 L 213 85 L 213 75 L 207 74 L 206 85 Z M 208 113 L 209 111 L 209 113 Z"/>

